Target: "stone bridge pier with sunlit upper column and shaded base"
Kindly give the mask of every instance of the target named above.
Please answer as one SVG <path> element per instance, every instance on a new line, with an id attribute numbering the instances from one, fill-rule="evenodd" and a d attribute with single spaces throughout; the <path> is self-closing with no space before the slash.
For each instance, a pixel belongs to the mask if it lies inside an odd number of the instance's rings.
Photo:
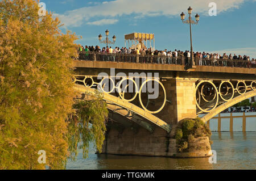
<path id="1" fill-rule="evenodd" d="M 102 153 L 119 155 L 147 155 L 176 157 L 175 132 L 177 123 L 185 118 L 196 118 L 196 79 L 163 79 L 167 95 L 167 103 L 163 110 L 155 116 L 171 125 L 171 132 L 154 127 L 149 132 L 142 127 L 115 127 L 118 120 L 110 121 Z M 163 92 L 159 97 L 163 97 Z M 155 103 L 161 105 L 162 103 Z M 121 118 L 123 119 L 123 118 Z M 184 155 L 184 154 L 183 154 Z M 183 156 L 182 155 L 182 156 Z M 189 153 L 185 157 L 205 157 L 205 153 Z"/>

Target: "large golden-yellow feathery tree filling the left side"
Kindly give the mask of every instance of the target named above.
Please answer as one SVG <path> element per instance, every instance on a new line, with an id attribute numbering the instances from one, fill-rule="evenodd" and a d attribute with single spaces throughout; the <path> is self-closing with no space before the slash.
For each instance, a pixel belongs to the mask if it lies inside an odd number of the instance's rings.
<path id="1" fill-rule="evenodd" d="M 59 19 L 38 11 L 34 0 L 0 2 L 0 169 L 63 169 L 75 151 L 68 150 L 68 141 L 77 141 L 68 127 L 76 124 L 67 118 L 75 113 L 78 37 L 61 33 Z M 46 164 L 39 164 L 39 150 Z"/>

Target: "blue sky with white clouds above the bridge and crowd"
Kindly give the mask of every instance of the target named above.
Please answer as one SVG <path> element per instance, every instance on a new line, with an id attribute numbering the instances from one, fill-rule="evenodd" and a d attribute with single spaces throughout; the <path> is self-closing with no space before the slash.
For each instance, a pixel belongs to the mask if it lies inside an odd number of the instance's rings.
<path id="1" fill-rule="evenodd" d="M 99 45 L 98 35 L 115 35 L 113 47 L 124 47 L 124 35 L 133 32 L 155 34 L 155 49 L 189 50 L 189 25 L 183 24 L 181 12 L 188 18 L 200 15 L 192 26 L 193 49 L 216 53 L 246 54 L 256 58 L 256 0 L 42 0 L 54 17 L 59 17 L 63 32 L 71 30 L 82 39 L 81 45 Z M 209 3 L 216 4 L 216 16 L 209 14 Z M 213 12 L 213 11 L 210 11 Z"/>

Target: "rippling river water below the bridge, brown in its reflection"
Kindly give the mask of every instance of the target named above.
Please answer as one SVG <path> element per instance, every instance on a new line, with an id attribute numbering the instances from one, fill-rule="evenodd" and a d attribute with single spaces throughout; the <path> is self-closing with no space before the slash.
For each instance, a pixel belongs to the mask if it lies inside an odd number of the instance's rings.
<path id="1" fill-rule="evenodd" d="M 89 158 L 79 154 L 76 162 L 68 161 L 67 169 L 82 170 L 144 170 L 144 169 L 255 169 L 256 132 L 222 132 L 212 134 L 212 149 L 217 151 L 217 164 L 208 158 L 174 159 L 163 157 L 135 157 L 96 155 L 91 146 Z"/>

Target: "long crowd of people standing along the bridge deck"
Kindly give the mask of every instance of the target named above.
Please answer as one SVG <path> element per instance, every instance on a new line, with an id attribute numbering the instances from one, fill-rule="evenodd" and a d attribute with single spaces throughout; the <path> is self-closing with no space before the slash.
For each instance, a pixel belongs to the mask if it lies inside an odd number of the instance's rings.
<path id="1" fill-rule="evenodd" d="M 79 48 L 80 52 L 85 52 L 85 54 L 89 54 L 88 52 L 99 52 L 102 54 L 134 54 L 137 55 L 135 56 L 134 59 L 131 58 L 132 61 L 135 62 L 152 62 L 152 63 L 158 63 L 158 64 L 179 64 L 177 62 L 178 57 L 183 57 L 184 58 L 184 64 L 188 64 L 190 58 L 191 58 L 191 52 L 188 50 L 180 51 L 180 50 L 153 50 L 152 48 L 148 49 L 131 49 L 131 48 L 126 48 L 126 47 L 103 47 L 102 49 L 99 46 L 81 46 Z M 138 56 L 141 55 L 141 56 Z M 142 58 L 139 59 L 139 57 L 143 56 L 158 56 L 158 58 Z M 222 66 L 227 66 L 227 61 L 228 60 L 233 60 L 237 62 L 244 62 L 247 61 L 247 63 L 250 64 L 256 64 L 256 60 L 254 58 L 250 59 L 249 56 L 246 55 L 236 55 L 236 54 L 226 54 L 224 53 L 223 55 L 218 54 L 218 53 L 207 53 L 207 52 L 195 52 L 193 56 L 198 60 L 198 65 L 208 65 L 207 60 L 212 60 L 212 64 L 220 64 L 218 60 L 221 61 Z M 227 61 L 225 61 L 227 60 Z M 112 58 L 109 58 L 108 60 L 104 61 L 116 61 L 115 56 L 112 56 Z M 119 60 L 117 60 L 119 61 Z"/>

